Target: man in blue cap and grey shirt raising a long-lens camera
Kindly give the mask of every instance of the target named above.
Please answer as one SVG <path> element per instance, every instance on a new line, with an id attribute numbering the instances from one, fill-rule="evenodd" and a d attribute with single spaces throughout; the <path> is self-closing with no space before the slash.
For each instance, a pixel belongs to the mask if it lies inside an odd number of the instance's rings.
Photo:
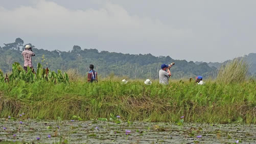
<path id="1" fill-rule="evenodd" d="M 160 84 L 166 84 L 168 85 L 168 80 L 170 78 L 170 76 L 172 76 L 170 68 L 172 65 L 166 65 L 166 64 L 162 64 L 161 65 L 161 69 L 159 70 L 159 83 Z M 167 71 L 166 71 L 167 70 Z"/>

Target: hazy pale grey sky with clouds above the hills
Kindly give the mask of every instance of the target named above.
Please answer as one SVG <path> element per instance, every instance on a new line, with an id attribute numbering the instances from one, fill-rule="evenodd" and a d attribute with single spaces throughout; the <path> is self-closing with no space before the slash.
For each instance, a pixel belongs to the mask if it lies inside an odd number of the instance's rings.
<path id="1" fill-rule="evenodd" d="M 0 0 L 0 46 L 221 62 L 256 53 L 256 1 Z"/>

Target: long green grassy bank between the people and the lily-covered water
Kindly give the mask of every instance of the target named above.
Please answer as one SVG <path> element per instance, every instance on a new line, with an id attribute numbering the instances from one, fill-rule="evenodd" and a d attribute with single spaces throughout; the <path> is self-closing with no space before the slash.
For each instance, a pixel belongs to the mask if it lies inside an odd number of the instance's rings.
<path id="1" fill-rule="evenodd" d="M 72 119 L 109 118 L 110 113 L 134 121 L 256 124 L 256 83 L 205 85 L 189 82 L 143 81 L 121 84 L 120 81 L 99 83 L 72 82 L 54 84 L 0 83 L 0 117 Z"/>

